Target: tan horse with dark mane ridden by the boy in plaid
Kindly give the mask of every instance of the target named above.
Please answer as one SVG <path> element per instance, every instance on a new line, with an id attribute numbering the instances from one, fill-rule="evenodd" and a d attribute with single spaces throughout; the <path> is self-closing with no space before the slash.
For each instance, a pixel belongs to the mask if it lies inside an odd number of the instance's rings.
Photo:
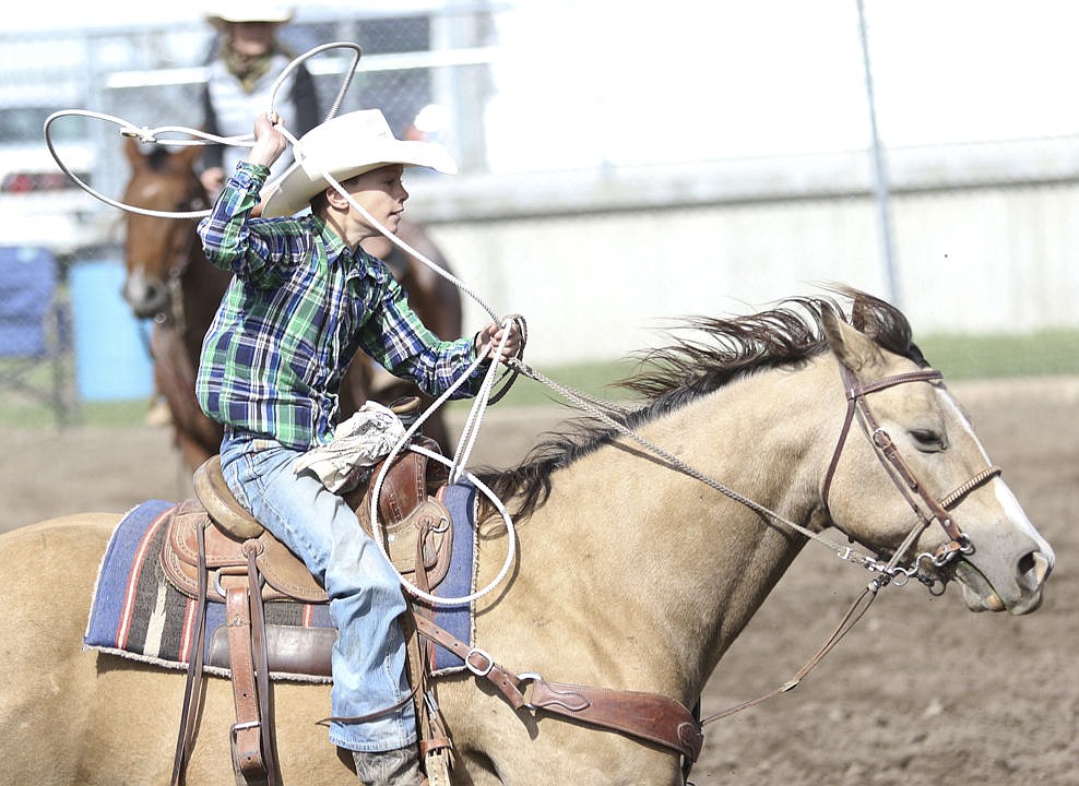
<path id="1" fill-rule="evenodd" d="M 655 353 L 655 370 L 632 383 L 647 400 L 624 422 L 783 520 L 826 535 L 834 527 L 881 560 L 909 534 L 900 565 L 944 548 L 951 557 L 940 565 L 918 559 L 920 572 L 958 580 L 973 610 L 1036 609 L 1052 548 L 987 471 L 951 393 L 922 369 L 902 314 L 859 297 L 858 330 L 830 303 L 799 298 L 756 317 L 693 323 L 692 342 Z M 849 383 L 842 368 L 854 374 Z M 850 429 L 846 390 L 865 393 L 855 398 L 869 406 Z M 878 442 L 889 434 L 902 466 L 950 509 L 951 532 L 912 511 L 893 483 L 896 465 L 867 439 L 870 416 Z M 526 514 L 509 580 L 477 602 L 478 646 L 515 672 L 692 706 L 806 537 L 603 425 L 537 451 L 497 480 L 487 476 Z M 117 521 L 78 515 L 0 536 L 4 783 L 168 782 L 183 675 L 81 648 L 95 571 Z M 498 572 L 507 543 L 500 519 L 482 529 L 481 586 Z M 969 547 L 952 553 L 957 535 Z M 514 712 L 469 672 L 437 690 L 456 747 L 455 784 L 683 783 L 677 754 L 544 712 Z M 329 713 L 328 690 L 281 683 L 273 701 L 283 783 L 355 783 L 347 757 L 316 725 Z M 188 784 L 230 782 L 232 718 L 228 684 L 211 679 Z"/>

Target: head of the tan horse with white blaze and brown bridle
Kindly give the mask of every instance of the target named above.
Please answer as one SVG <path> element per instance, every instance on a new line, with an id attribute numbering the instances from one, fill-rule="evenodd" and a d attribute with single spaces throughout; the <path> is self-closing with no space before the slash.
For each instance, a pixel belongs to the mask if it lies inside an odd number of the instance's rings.
<path id="1" fill-rule="evenodd" d="M 822 511 L 853 539 L 910 565 L 908 575 L 958 581 L 973 611 L 1033 611 L 1053 549 L 898 317 L 864 296 L 853 324 L 821 314 L 847 407 Z"/>

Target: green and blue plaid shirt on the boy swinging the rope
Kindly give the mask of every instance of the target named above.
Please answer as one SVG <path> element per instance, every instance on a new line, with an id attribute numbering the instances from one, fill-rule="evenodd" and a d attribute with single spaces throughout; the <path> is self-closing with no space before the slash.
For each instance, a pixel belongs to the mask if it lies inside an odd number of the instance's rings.
<path id="1" fill-rule="evenodd" d="M 394 376 L 443 393 L 475 359 L 472 342 L 439 341 L 386 265 L 346 248 L 318 217 L 250 218 L 268 174 L 240 164 L 199 224 L 206 258 L 234 274 L 202 345 L 203 412 L 297 450 L 324 444 L 360 348 Z M 482 380 L 481 368 L 455 395 L 475 395 Z"/>

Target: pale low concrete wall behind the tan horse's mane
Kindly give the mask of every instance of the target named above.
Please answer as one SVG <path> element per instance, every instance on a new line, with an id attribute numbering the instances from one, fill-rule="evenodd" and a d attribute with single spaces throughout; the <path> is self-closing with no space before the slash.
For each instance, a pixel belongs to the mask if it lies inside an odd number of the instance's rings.
<path id="1" fill-rule="evenodd" d="M 864 158 L 424 178 L 408 210 L 496 313 L 527 318 L 533 360 L 605 359 L 654 342 L 666 318 L 758 310 L 823 282 L 889 297 Z M 915 335 L 1079 327 L 1079 140 L 892 159 L 891 299 Z"/>

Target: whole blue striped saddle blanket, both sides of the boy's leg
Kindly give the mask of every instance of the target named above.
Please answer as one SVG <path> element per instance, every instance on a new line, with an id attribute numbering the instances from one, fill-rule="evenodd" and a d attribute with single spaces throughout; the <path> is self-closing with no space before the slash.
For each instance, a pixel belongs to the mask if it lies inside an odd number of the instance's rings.
<path id="1" fill-rule="evenodd" d="M 453 561 L 446 579 L 432 593 L 439 597 L 463 597 L 475 591 L 476 549 L 473 535 L 476 489 L 467 483 L 443 489 L 442 502 L 453 516 Z M 86 647 L 150 663 L 186 669 L 197 623 L 197 604 L 176 590 L 161 567 L 166 524 L 177 505 L 162 500 L 143 502 L 117 525 L 105 550 L 94 586 L 90 620 L 83 643 Z M 458 639 L 473 643 L 471 604 L 437 606 L 435 622 Z M 210 665 L 214 632 L 225 621 L 225 605 L 206 605 L 204 670 L 222 677 L 227 668 Z M 265 605 L 268 626 L 292 629 L 333 628 L 329 606 L 272 602 Z M 473 643 L 474 645 L 474 643 Z M 437 646 L 431 671 L 436 676 L 464 669 L 464 662 Z M 328 682 L 321 676 L 272 671 L 275 680 Z"/>

